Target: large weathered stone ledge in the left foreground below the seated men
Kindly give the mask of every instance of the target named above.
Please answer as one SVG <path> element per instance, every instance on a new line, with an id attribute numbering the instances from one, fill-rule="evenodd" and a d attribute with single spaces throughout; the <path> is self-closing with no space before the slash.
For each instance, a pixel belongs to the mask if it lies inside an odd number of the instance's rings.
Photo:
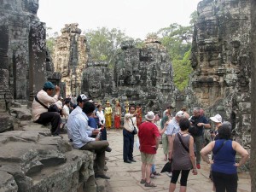
<path id="1" fill-rule="evenodd" d="M 96 191 L 93 153 L 73 149 L 61 137 L 45 137 L 41 125 L 31 125 L 35 128 L 26 125 L 28 131 L 0 134 L 0 172 L 9 174 L 3 182 L 16 182 L 16 190 L 4 191 L 76 192 L 87 191 L 86 184 Z"/>

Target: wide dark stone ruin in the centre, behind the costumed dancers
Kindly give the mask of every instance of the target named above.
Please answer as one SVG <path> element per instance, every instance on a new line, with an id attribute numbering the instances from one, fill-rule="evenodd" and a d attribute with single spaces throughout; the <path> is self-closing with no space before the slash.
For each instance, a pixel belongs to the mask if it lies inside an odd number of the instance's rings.
<path id="1" fill-rule="evenodd" d="M 143 49 L 134 48 L 132 41 L 121 48 L 113 73 L 119 100 L 127 98 L 154 112 L 172 103 L 172 63 L 157 37 L 148 37 Z"/>

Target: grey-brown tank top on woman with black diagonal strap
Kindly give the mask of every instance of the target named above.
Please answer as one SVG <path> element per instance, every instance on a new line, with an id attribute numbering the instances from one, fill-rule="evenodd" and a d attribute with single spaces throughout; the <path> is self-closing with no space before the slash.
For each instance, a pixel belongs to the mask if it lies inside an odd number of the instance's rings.
<path id="1" fill-rule="evenodd" d="M 180 134 L 179 132 L 177 134 Z M 173 141 L 173 153 L 172 153 L 172 169 L 173 170 L 190 170 L 193 166 L 189 157 L 189 152 L 183 148 L 182 143 L 180 143 L 179 138 L 175 134 Z M 181 135 L 181 134 L 180 134 Z M 189 148 L 189 138 L 191 136 L 188 135 L 181 138 L 183 140 L 184 145 Z"/>

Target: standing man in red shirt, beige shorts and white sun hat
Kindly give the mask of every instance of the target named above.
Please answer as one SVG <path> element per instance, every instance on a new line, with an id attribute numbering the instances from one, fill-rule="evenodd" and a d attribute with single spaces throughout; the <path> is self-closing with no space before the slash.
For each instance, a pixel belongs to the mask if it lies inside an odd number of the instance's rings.
<path id="1" fill-rule="evenodd" d="M 154 113 L 149 111 L 145 115 L 147 121 L 139 126 L 138 131 L 141 158 L 143 162 L 141 183 L 144 183 L 145 187 L 156 187 L 156 185 L 150 181 L 151 166 L 154 164 L 154 156 L 160 139 L 160 132 L 158 131 L 157 126 L 154 125 L 154 118 Z"/>

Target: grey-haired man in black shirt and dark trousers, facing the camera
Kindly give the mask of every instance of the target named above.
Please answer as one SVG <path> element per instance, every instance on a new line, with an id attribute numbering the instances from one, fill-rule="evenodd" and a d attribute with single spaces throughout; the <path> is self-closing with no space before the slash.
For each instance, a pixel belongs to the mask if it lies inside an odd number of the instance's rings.
<path id="1" fill-rule="evenodd" d="M 203 143 L 203 130 L 204 127 L 209 129 L 211 125 L 209 124 L 207 118 L 201 115 L 200 108 L 193 109 L 193 116 L 190 119 L 191 128 L 189 129 L 190 134 L 194 137 L 195 141 L 195 155 L 196 155 L 196 167 L 200 169 L 201 162 L 201 148 Z"/>

